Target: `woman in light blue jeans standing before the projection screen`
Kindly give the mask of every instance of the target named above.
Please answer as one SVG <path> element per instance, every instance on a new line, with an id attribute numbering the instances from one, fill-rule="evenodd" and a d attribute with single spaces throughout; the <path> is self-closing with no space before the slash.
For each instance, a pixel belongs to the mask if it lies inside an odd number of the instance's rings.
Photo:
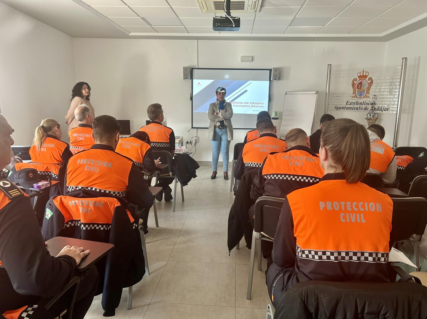
<path id="1" fill-rule="evenodd" d="M 233 117 L 233 108 L 230 102 L 225 102 L 227 90 L 219 87 L 215 91 L 216 101 L 209 105 L 208 117 L 211 120 L 209 123 L 209 141 L 212 144 L 212 176 L 216 178 L 216 170 L 218 169 L 219 151 L 222 153 L 222 162 L 224 165 L 224 179 L 228 179 L 228 153 L 230 149 L 230 141 L 233 139 L 233 125 L 231 118 Z"/>

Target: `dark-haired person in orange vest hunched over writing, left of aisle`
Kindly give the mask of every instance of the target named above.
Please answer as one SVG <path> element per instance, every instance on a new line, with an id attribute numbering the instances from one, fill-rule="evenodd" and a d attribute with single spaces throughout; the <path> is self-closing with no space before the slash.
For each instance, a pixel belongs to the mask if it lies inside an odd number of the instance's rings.
<path id="1" fill-rule="evenodd" d="M 120 138 L 116 152 L 129 157 L 142 172 L 152 173 L 159 164 L 153 158 L 150 138 L 146 132 L 137 131 L 127 138 Z"/>

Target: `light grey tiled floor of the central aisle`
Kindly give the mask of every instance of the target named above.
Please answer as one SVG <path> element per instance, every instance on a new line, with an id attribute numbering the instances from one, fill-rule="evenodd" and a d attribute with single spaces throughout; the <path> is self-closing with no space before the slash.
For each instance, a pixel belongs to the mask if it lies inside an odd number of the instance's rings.
<path id="1" fill-rule="evenodd" d="M 228 212 L 234 196 L 222 172 L 211 180 L 211 167 L 184 187 L 185 201 L 157 202 L 159 228 L 152 210 L 146 235 L 150 276 L 133 288 L 133 309 L 127 310 L 127 289 L 115 318 L 263 319 L 269 303 L 263 271 L 254 270 L 252 300 L 246 299 L 250 250 L 244 240 L 228 256 Z M 179 185 L 178 185 L 179 186 Z M 179 189 L 178 189 L 179 191 Z M 85 318 L 102 317 L 96 296 Z"/>

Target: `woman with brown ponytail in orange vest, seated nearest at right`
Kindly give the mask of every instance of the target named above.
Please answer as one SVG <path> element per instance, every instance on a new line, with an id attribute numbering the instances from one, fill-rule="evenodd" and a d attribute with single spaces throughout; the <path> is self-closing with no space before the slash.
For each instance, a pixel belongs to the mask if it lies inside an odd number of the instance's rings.
<path id="1" fill-rule="evenodd" d="M 273 305 L 306 280 L 389 282 L 393 202 L 360 182 L 369 167 L 369 135 L 348 118 L 322 128 L 325 175 L 294 190 L 282 207 L 266 284 Z"/>

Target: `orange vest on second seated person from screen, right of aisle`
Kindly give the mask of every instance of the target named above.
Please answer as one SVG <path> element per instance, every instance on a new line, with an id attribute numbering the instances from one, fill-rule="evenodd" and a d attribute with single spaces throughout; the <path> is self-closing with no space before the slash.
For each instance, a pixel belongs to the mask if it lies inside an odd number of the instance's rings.
<path id="1" fill-rule="evenodd" d="M 243 147 L 243 163 L 245 167 L 261 167 L 264 159 L 271 152 L 282 152 L 286 142 L 274 136 L 262 136 L 246 143 Z"/>

